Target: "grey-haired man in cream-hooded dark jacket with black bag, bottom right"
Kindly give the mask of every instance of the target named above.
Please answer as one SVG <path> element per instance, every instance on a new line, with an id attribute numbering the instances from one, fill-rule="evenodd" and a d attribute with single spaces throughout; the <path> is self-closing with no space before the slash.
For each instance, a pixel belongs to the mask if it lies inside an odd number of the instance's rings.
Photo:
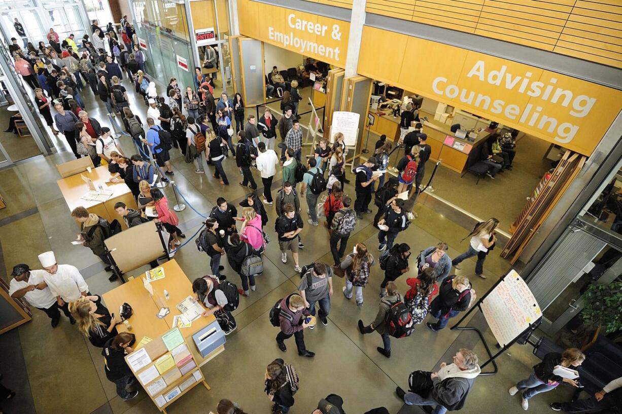
<path id="1" fill-rule="evenodd" d="M 453 357 L 453 363 L 442 362 L 438 372 L 420 371 L 421 375 L 414 377 L 414 382 L 409 384 L 411 392 L 397 387 L 397 397 L 407 405 L 423 406 L 424 411 L 432 414 L 458 411 L 464 407 L 466 397 L 480 373 L 475 352 L 461 348 Z M 436 407 L 427 411 L 425 406 L 429 405 Z"/>

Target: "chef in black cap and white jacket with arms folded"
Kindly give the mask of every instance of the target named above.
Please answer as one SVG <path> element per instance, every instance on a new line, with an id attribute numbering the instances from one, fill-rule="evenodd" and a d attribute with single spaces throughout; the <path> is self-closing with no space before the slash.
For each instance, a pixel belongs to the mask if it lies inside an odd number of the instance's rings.
<path id="1" fill-rule="evenodd" d="M 52 328 L 56 328 L 60 320 L 58 303 L 44 277 L 45 270 L 30 270 L 29 265 L 21 263 L 13 267 L 11 284 L 9 285 L 9 295 L 12 298 L 22 298 L 30 306 L 42 310 L 52 320 Z M 66 313 L 69 316 L 68 313 Z"/>

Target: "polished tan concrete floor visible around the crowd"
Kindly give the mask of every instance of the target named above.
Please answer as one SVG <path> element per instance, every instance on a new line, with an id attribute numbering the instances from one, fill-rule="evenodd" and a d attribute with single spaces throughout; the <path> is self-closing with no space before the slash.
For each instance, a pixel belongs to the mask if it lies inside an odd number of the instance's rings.
<path id="1" fill-rule="evenodd" d="M 124 83 L 129 86 L 127 81 Z M 90 116 L 109 124 L 104 117 L 103 105 L 95 101 L 89 91 L 85 91 L 84 98 Z M 137 101 L 132 96 L 131 106 L 144 119 L 146 107 L 142 99 Z M 62 137 L 55 142 L 58 154 L 35 157 L 0 171 L 0 193 L 8 205 L 6 209 L 0 209 L 0 273 L 5 279 L 8 278 L 12 266 L 21 262 L 37 268 L 37 254 L 53 249 L 59 263 L 76 265 L 86 278 L 90 291 L 101 294 L 117 287 L 119 282 L 108 282 L 109 274 L 103 270 L 104 265 L 88 249 L 70 244 L 77 228 L 58 190 L 56 180 L 60 177 L 55 164 L 72 160 L 73 155 L 67 151 Z M 132 153 L 131 143 L 126 137 L 121 138 L 121 145 Z M 211 177 L 211 173 L 197 174 L 192 165 L 183 162 L 179 153 L 173 150 L 172 154 L 175 155 L 175 182 L 188 206 L 179 214 L 180 227 L 189 239 L 200 228 L 200 214 L 205 215 L 211 210 L 217 196 L 223 195 L 229 201 L 238 203 L 247 189 L 237 185 L 240 176 L 233 160 L 225 162 L 231 185 L 223 187 Z M 256 174 L 255 178 L 259 180 L 259 175 Z M 274 188 L 279 186 L 280 179 L 279 173 Z M 164 191 L 173 202 L 171 186 Z M 352 186 L 346 186 L 346 193 L 353 195 L 353 192 Z M 273 241 L 264 255 L 266 271 L 258 279 L 257 291 L 248 298 L 241 298 L 239 308 L 234 312 L 238 329 L 227 337 L 225 352 L 202 368 L 211 391 L 195 387 L 174 403 L 168 412 L 208 413 L 215 411 L 218 400 L 230 398 L 251 414 L 269 413 L 271 403 L 263 391 L 264 369 L 274 358 L 284 357 L 285 361 L 294 364 L 301 379 L 292 414 L 312 412 L 318 400 L 328 393 L 341 395 L 345 400 L 344 409 L 349 414 L 360 414 L 380 406 L 395 414 L 402 408 L 402 403 L 394 395 L 395 387 L 406 387 L 407 377 L 413 370 L 432 370 L 440 362 L 450 362 L 460 347 L 471 347 L 480 354 L 481 361 L 486 359 L 481 341 L 472 331 L 447 328 L 432 333 L 423 325 L 411 337 L 392 341 L 391 359 L 378 354 L 376 346 L 381 344 L 379 336 L 369 334 L 363 337 L 356 328 L 359 318 L 369 323 L 376 315 L 379 283 L 383 278 L 377 266 L 373 268 L 370 282 L 364 289 L 362 308 L 358 308 L 353 301 L 345 300 L 341 295 L 344 282 L 335 278 L 335 295 L 328 326 L 320 325 L 313 331 L 305 331 L 307 347 L 317 352 L 315 358 L 297 356 L 293 339 L 287 341 L 289 351 L 283 354 L 274 342 L 277 329 L 269 323 L 268 312 L 278 298 L 295 290 L 299 276 L 294 271 L 291 258 L 287 264 L 280 261 L 273 231 L 275 214 L 274 208 L 268 209 L 270 221 L 266 229 Z M 349 246 L 365 242 L 377 256 L 377 236 L 371 226 L 371 218 L 368 215 L 357 224 Z M 397 241 L 408 242 L 413 252 L 445 241 L 450 246 L 448 254 L 455 257 L 467 247 L 466 242 L 460 242 L 464 236 L 465 228 L 432 209 L 422 207 L 419 218 Z M 305 223 L 302 239 L 306 245 L 300 252 L 302 264 L 313 260 L 330 263 L 327 231 L 322 226 L 309 228 Z M 190 280 L 208 273 L 208 257 L 197 251 L 193 241 L 188 242 L 175 255 L 175 259 Z M 226 260 L 223 264 L 226 268 L 223 274 L 233 282 L 239 282 Z M 472 276 L 474 266 L 475 262 L 468 260 L 458 272 Z M 488 278 L 473 278 L 474 288 L 480 295 L 483 294 L 508 269 L 508 262 L 500 259 L 497 252 L 491 254 L 485 264 Z M 144 270 L 137 269 L 129 274 L 138 275 Z M 411 275 L 412 272 L 397 280 L 401 292 L 406 291 L 406 277 Z M 468 323 L 485 328 L 481 315 L 473 315 Z M 489 343 L 494 344 L 490 333 L 486 334 Z M 2 403 L 4 412 L 157 413 L 156 406 L 144 391 L 128 402 L 116 396 L 114 384 L 104 375 L 100 351 L 91 346 L 66 318 L 63 317 L 60 325 L 52 329 L 47 316 L 34 310 L 30 323 L 0 336 L 3 384 L 17 391 L 14 400 Z M 498 374 L 480 377 L 476 381 L 462 412 L 522 412 L 519 397 L 510 397 L 507 389 L 517 380 L 527 377 L 536 362 L 531 346 L 511 347 L 498 359 Z M 554 392 L 539 395 L 531 400 L 531 412 L 549 412 L 549 402 L 565 400 L 569 397 L 569 391 L 566 387 L 560 387 Z M 402 412 L 423 413 L 419 408 Z"/>

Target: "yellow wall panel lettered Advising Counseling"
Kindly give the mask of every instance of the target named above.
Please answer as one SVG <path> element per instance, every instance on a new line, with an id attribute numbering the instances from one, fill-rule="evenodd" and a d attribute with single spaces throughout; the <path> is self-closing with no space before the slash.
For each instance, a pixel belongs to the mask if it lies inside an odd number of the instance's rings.
<path id="1" fill-rule="evenodd" d="M 362 44 L 365 46 L 361 47 L 358 62 L 358 73 L 361 75 L 451 104 L 585 155 L 592 154 L 622 108 L 622 91 L 483 53 L 369 26 L 363 27 Z M 491 85 L 488 82 L 491 71 L 499 71 L 503 67 L 506 70 L 501 84 Z M 485 77 L 483 81 L 479 78 L 481 71 Z M 470 72 L 471 76 L 468 76 Z M 496 81 L 496 78 L 491 80 Z M 521 93 L 519 88 L 524 80 L 528 83 Z M 437 91 L 433 86 L 435 81 Z M 511 85 L 513 82 L 516 82 L 515 86 Z M 544 83 L 541 96 L 529 96 L 528 93 L 537 94 L 537 86 L 534 85 L 534 91 L 531 90 L 533 82 Z M 450 85 L 455 85 L 455 88 Z M 552 86 L 552 93 L 548 99 L 543 99 L 549 85 Z M 450 86 L 450 90 L 446 90 L 447 86 Z M 557 103 L 551 102 L 557 88 L 572 92 L 572 99 L 566 107 L 562 106 L 565 94 L 560 95 Z M 473 93 L 471 103 L 461 101 L 460 94 L 455 98 L 447 96 L 447 93 L 462 93 L 463 90 L 465 99 L 470 98 L 471 92 Z M 481 98 L 480 103 L 476 104 L 478 94 L 490 96 L 488 109 L 484 109 L 485 98 Z M 496 99 L 504 101 L 501 113 L 496 113 L 494 109 L 493 102 Z M 589 111 L 587 108 L 582 109 L 588 105 L 588 99 L 595 99 Z M 575 109 L 573 105 L 576 106 Z M 524 110 L 529 106 L 531 113 L 521 120 Z M 541 115 L 529 125 L 536 113 Z M 579 116 L 582 114 L 585 116 Z M 544 122 L 539 127 L 542 116 L 555 118 L 557 126 L 548 131 L 551 121 Z M 565 123 L 568 126 L 560 127 Z M 576 132 L 572 137 L 573 129 Z"/>

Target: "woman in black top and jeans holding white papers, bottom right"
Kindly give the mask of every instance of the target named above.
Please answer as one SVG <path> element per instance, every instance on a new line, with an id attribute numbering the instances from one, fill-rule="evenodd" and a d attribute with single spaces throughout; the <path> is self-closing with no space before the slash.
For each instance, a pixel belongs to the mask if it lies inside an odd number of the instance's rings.
<path id="1" fill-rule="evenodd" d="M 580 349 L 568 348 L 564 352 L 549 352 L 544 356 L 542 362 L 534 366 L 534 370 L 529 378 L 524 379 L 511 387 L 509 395 L 521 393 L 521 407 L 523 410 L 529 408 L 529 399 L 541 392 L 555 389 L 557 385 L 565 382 L 573 387 L 578 387 L 578 379 L 572 380 L 553 374 L 557 366 L 577 370 L 585 361 L 585 355 Z"/>

